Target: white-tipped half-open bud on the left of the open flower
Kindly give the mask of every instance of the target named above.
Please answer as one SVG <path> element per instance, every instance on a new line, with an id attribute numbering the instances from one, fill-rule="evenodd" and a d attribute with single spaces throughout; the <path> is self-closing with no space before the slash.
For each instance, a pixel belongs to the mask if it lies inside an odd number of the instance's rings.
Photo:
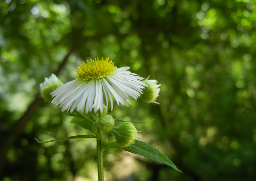
<path id="1" fill-rule="evenodd" d="M 50 93 L 62 84 L 63 83 L 60 81 L 60 79 L 58 79 L 58 77 L 56 77 L 54 74 L 52 74 L 49 78 L 45 77 L 44 83 L 40 83 L 39 85 L 44 100 L 52 102 L 52 95 Z"/>

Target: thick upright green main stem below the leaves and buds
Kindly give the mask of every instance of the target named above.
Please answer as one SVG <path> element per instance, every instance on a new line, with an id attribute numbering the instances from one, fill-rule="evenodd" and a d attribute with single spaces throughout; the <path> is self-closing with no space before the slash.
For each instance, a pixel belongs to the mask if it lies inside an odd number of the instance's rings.
<path id="1" fill-rule="evenodd" d="M 98 180 L 104 181 L 104 172 L 103 172 L 103 150 L 101 139 L 97 139 L 97 167 L 98 167 Z"/>

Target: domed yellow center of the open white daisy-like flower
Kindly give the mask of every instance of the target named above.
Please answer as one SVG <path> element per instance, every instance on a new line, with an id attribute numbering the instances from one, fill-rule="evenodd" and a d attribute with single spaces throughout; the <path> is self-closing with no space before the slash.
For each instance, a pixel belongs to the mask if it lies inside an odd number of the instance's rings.
<path id="1" fill-rule="evenodd" d="M 98 80 L 108 75 L 112 74 L 117 67 L 114 66 L 114 62 L 112 60 L 108 61 L 109 58 L 107 57 L 106 60 L 99 60 L 99 57 L 95 60 L 91 59 L 91 62 L 86 60 L 84 65 L 77 66 L 77 79 L 82 81 L 88 80 Z"/>

